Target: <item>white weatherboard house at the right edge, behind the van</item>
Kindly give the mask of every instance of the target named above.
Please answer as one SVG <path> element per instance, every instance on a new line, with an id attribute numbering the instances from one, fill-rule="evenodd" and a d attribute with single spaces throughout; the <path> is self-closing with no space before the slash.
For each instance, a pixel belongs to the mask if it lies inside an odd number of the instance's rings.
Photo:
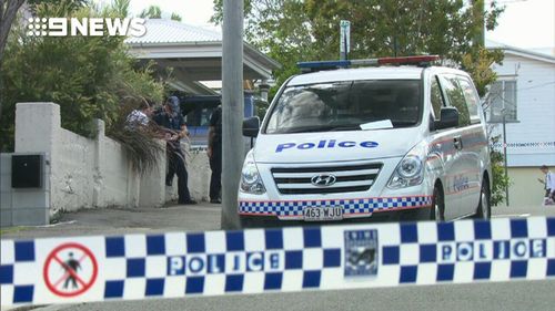
<path id="1" fill-rule="evenodd" d="M 486 42 L 501 49 L 503 64 L 494 64 L 497 81 L 490 90 L 486 110 L 493 135 L 506 133 L 508 203 L 514 206 L 539 205 L 544 186 L 539 166 L 555 170 L 555 55 Z M 505 122 L 503 122 L 505 116 Z"/>

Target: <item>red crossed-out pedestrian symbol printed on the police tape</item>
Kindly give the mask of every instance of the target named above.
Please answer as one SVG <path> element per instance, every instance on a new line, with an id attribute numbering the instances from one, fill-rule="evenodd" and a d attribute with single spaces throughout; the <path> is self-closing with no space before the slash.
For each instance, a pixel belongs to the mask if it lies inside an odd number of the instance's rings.
<path id="1" fill-rule="evenodd" d="M 98 265 L 90 249 L 80 243 L 63 243 L 44 261 L 43 277 L 48 289 L 61 297 L 88 291 L 97 280 Z"/>

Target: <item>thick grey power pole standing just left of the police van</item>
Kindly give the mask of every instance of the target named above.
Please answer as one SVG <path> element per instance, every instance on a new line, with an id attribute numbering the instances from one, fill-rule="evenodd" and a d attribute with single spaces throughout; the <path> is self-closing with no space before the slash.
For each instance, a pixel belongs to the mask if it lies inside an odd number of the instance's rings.
<path id="1" fill-rule="evenodd" d="M 239 228 L 238 189 L 243 166 L 243 1 L 223 1 L 222 229 Z"/>

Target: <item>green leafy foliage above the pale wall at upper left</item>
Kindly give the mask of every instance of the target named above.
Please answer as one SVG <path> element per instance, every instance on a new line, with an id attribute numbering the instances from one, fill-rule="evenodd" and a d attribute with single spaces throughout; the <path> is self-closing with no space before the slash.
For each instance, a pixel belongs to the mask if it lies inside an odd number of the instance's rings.
<path id="1" fill-rule="evenodd" d="M 37 17 L 117 17 L 107 9 L 60 3 L 34 6 Z M 0 73 L 2 106 L 1 147 L 13 149 L 14 111 L 18 102 L 54 102 L 62 126 L 92 136 L 93 118 L 110 129 L 121 113 L 123 97 L 161 101 L 163 84 L 153 79 L 152 65 L 141 66 L 128 54 L 123 37 L 31 37 L 23 23 L 14 24 Z"/>

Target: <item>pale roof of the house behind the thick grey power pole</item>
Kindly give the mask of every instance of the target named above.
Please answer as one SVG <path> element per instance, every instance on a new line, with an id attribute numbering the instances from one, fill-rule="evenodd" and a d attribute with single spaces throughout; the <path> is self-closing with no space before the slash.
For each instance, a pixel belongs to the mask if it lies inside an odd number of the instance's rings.
<path id="1" fill-rule="evenodd" d="M 128 38 L 130 53 L 139 60 L 154 60 L 161 69 L 172 68 L 178 90 L 192 94 L 213 94 L 200 81 L 222 77 L 222 34 L 173 20 L 149 19 L 147 33 Z M 268 80 L 281 65 L 248 43 L 243 43 L 243 75 L 246 80 Z"/>

